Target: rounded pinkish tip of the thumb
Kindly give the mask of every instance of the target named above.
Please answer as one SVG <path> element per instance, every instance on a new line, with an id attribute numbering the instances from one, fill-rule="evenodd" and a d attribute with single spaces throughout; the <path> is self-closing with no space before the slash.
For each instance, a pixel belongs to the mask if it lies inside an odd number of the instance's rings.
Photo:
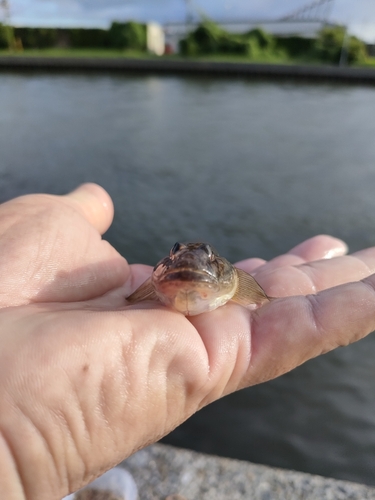
<path id="1" fill-rule="evenodd" d="M 82 184 L 64 195 L 63 199 L 73 205 L 100 234 L 111 225 L 114 215 L 112 199 L 97 184 Z"/>

